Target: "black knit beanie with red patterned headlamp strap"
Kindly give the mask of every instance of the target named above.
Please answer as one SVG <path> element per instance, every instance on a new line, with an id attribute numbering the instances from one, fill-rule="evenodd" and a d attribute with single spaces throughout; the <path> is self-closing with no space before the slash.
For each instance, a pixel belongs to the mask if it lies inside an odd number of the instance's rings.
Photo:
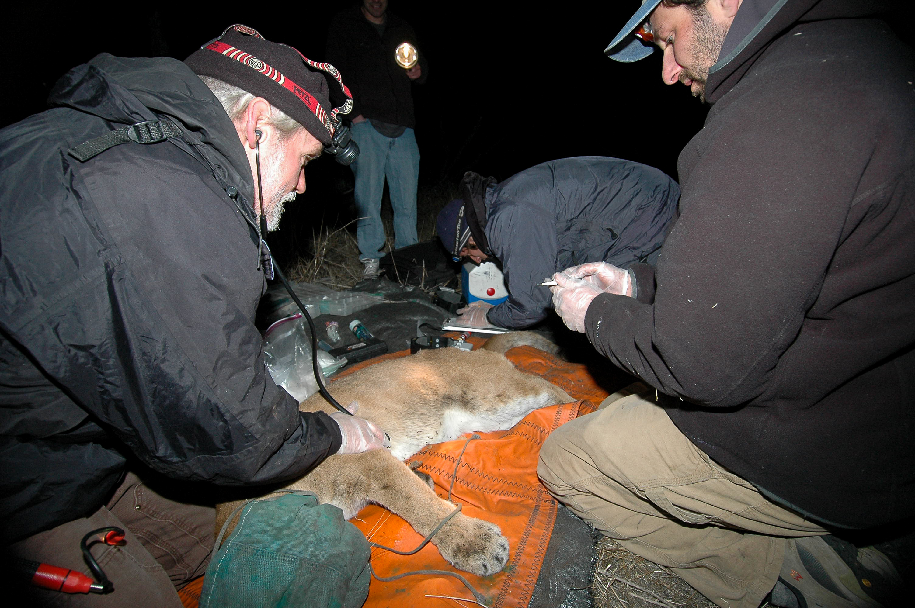
<path id="1" fill-rule="evenodd" d="M 322 144 L 329 144 L 334 127 L 328 80 L 309 69 L 307 61 L 295 48 L 269 42 L 242 25 L 228 28 L 184 60 L 198 76 L 210 76 L 263 97 Z M 337 76 L 329 64 L 309 63 Z"/>

